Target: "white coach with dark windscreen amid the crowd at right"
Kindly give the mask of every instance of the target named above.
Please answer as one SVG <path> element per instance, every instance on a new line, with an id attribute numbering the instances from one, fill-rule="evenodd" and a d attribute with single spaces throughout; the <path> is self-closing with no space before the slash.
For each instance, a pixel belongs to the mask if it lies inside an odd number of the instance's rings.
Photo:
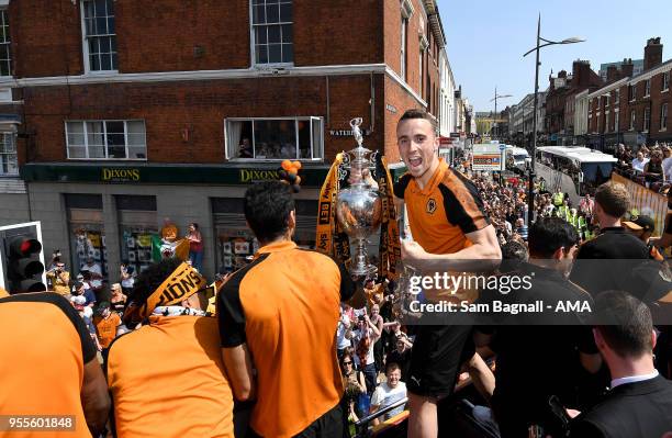
<path id="1" fill-rule="evenodd" d="M 546 190 L 568 193 L 574 205 L 611 180 L 617 161 L 612 155 L 583 146 L 538 147 L 535 160 L 537 178 L 544 178 Z"/>

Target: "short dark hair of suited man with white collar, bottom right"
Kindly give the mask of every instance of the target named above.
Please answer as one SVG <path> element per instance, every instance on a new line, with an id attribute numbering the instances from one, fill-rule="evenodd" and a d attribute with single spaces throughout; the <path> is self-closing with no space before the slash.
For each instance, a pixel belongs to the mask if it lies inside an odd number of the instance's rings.
<path id="1" fill-rule="evenodd" d="M 595 328 L 621 358 L 639 358 L 653 350 L 653 321 L 649 307 L 627 292 L 607 291 L 595 299 Z"/>

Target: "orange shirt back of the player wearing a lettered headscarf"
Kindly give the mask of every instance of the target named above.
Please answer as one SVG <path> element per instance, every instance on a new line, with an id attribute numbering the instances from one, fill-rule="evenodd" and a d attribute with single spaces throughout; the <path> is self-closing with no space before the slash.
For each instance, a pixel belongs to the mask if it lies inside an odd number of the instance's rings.
<path id="1" fill-rule="evenodd" d="M 215 318 L 150 316 L 110 346 L 108 385 L 119 438 L 234 436 Z"/>

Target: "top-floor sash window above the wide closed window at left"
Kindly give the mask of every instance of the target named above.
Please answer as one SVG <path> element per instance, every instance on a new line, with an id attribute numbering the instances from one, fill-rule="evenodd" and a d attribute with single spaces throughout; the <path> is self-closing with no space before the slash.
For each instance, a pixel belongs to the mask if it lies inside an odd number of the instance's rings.
<path id="1" fill-rule="evenodd" d="M 85 0 L 81 8 L 87 71 L 115 71 L 117 60 L 114 1 Z"/>

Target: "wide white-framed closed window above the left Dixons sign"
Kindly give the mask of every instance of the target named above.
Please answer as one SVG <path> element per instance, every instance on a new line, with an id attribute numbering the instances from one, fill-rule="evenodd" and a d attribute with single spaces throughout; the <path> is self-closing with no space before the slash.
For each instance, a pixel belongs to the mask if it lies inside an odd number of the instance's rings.
<path id="1" fill-rule="evenodd" d="M 69 121 L 66 142 L 68 159 L 147 159 L 142 120 Z"/>

